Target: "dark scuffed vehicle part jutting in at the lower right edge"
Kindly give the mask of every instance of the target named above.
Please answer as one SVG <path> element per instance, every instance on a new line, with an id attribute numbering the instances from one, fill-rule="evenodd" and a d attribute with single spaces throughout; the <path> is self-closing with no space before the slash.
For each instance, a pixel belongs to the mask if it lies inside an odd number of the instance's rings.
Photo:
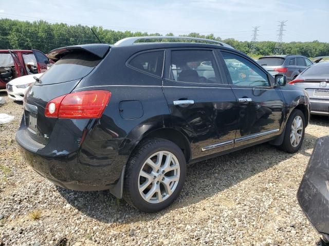
<path id="1" fill-rule="evenodd" d="M 313 227 L 329 246 L 329 136 L 320 137 L 309 159 L 297 198 Z"/>

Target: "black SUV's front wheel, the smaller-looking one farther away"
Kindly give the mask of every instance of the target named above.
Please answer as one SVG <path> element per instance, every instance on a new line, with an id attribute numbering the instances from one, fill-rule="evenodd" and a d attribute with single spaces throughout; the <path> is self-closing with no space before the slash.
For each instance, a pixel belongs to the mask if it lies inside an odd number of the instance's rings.
<path id="1" fill-rule="evenodd" d="M 295 109 L 291 112 L 286 124 L 284 139 L 279 148 L 288 153 L 297 152 L 304 140 L 305 117 L 302 111 Z"/>

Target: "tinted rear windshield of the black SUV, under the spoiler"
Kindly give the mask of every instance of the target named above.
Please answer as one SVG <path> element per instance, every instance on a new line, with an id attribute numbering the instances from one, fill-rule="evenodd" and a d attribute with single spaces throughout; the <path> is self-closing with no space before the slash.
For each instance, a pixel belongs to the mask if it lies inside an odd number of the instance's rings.
<path id="1" fill-rule="evenodd" d="M 41 85 L 51 85 L 85 77 L 99 64 L 101 59 L 88 52 L 69 53 L 41 77 Z"/>

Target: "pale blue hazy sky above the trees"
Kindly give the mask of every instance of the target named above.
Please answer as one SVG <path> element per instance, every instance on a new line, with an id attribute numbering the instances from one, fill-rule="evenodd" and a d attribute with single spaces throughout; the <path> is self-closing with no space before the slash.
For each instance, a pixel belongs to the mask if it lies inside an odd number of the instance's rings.
<path id="1" fill-rule="evenodd" d="M 0 0 L 0 18 L 103 26 L 149 33 L 213 33 L 223 39 L 329 42 L 329 0 Z"/>

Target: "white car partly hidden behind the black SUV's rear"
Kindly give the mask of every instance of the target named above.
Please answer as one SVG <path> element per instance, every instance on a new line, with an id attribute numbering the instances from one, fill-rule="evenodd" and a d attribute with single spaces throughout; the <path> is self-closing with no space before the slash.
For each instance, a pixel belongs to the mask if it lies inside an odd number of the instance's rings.
<path id="1" fill-rule="evenodd" d="M 34 76 L 40 78 L 43 73 L 36 73 L 15 78 L 7 83 L 8 97 L 16 101 L 23 101 L 27 88 L 35 81 Z"/>

